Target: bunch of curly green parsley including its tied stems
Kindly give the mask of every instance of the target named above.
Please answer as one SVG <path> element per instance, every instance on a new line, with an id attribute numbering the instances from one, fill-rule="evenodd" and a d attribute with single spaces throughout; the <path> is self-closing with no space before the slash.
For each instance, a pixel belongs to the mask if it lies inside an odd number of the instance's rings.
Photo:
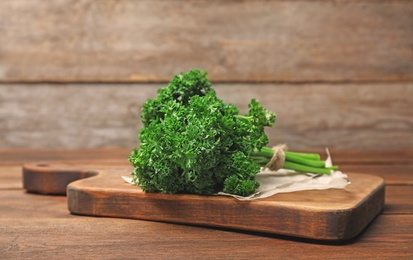
<path id="1" fill-rule="evenodd" d="M 274 124 L 275 114 L 255 99 L 248 107 L 240 115 L 219 99 L 206 72 L 174 76 L 143 104 L 140 147 L 129 156 L 133 182 L 147 192 L 250 195 L 259 186 L 255 175 L 273 154 L 264 128 Z M 319 156 L 290 152 L 284 168 L 330 172 Z"/>

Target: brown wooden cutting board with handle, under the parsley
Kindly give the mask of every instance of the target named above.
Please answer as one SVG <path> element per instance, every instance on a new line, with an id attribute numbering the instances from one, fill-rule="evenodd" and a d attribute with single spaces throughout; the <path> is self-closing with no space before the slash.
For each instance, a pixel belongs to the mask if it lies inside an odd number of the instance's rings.
<path id="1" fill-rule="evenodd" d="M 131 168 L 30 164 L 28 192 L 65 194 L 73 214 L 248 230 L 316 240 L 348 240 L 384 207 L 382 178 L 348 173 L 345 189 L 277 194 L 254 201 L 224 196 L 145 193 L 126 183 Z M 89 177 L 89 178 L 86 178 Z"/>

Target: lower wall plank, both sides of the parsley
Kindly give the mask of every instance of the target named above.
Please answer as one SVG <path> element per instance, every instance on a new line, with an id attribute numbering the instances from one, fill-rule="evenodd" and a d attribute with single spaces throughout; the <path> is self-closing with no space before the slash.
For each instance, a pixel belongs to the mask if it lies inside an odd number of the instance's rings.
<path id="1" fill-rule="evenodd" d="M 0 85 L 0 147 L 138 145 L 139 113 L 164 84 Z M 270 145 L 291 149 L 412 150 L 413 84 L 215 84 L 246 113 L 275 111 Z"/>

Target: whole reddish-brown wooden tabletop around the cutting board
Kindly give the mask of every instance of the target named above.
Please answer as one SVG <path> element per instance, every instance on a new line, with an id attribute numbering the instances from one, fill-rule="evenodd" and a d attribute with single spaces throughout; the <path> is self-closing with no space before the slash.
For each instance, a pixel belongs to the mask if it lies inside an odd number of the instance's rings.
<path id="1" fill-rule="evenodd" d="M 26 193 L 22 165 L 126 167 L 129 150 L 0 150 L 0 259 L 413 259 L 413 151 L 332 153 L 342 171 L 378 175 L 386 183 L 384 211 L 345 243 L 71 215 L 64 196 Z"/>

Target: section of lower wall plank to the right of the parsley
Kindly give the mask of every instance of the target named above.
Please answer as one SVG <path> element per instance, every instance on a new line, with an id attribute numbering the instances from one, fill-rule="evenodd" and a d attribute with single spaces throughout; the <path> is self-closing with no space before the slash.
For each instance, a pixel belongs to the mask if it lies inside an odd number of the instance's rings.
<path id="1" fill-rule="evenodd" d="M 252 97 L 277 114 L 270 145 L 294 149 L 411 150 L 413 85 L 304 84 L 218 86 L 241 112 Z M 237 93 L 236 95 L 234 93 Z"/>

